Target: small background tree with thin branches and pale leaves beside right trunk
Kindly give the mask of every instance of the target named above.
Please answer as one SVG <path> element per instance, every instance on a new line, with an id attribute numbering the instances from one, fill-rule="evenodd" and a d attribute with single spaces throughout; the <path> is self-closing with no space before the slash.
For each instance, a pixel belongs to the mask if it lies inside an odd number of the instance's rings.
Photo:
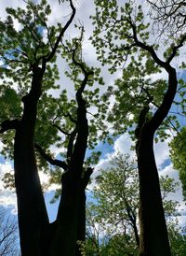
<path id="1" fill-rule="evenodd" d="M 108 230 L 109 234 L 117 234 L 123 230 L 139 247 L 137 165 L 134 161 L 129 161 L 128 155 L 123 156 L 121 153 L 118 153 L 111 164 L 112 167 L 106 171 L 102 170 L 97 178 L 99 185 L 93 191 L 98 201 L 95 208 L 102 223 L 105 223 L 104 230 Z M 111 227 L 106 228 L 106 224 L 111 224 Z"/>

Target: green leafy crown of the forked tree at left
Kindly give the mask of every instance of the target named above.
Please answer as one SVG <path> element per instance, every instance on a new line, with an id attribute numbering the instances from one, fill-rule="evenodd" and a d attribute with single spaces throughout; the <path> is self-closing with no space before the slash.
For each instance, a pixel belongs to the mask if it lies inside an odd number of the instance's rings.
<path id="1" fill-rule="evenodd" d="M 84 75 L 79 65 L 81 63 L 86 70 L 92 72 L 91 78 L 87 80 L 84 98 L 87 111 L 90 113 L 88 118 L 88 147 L 93 149 L 98 142 L 99 130 L 107 133 L 100 118 L 100 86 L 104 82 L 100 77 L 100 68 L 88 67 L 83 60 L 84 28 L 75 25 L 80 36 L 71 40 L 66 40 L 64 37 L 57 47 L 63 27 L 60 23 L 48 24 L 51 7 L 46 0 L 39 1 L 37 4 L 28 1 L 25 9 L 20 7 L 17 9 L 7 8 L 7 14 L 7 20 L 0 23 L 0 29 L 3 32 L 0 40 L 0 61 L 2 62 L 0 68 L 3 78 L 0 89 L 0 107 L 5 109 L 0 121 L 20 118 L 22 113 L 21 99 L 30 89 L 34 64 L 40 66 L 43 60 L 48 59 L 49 62 L 46 64 L 43 78 L 43 92 L 37 109 L 35 143 L 40 145 L 51 157 L 55 157 L 54 154 L 50 153 L 51 145 L 61 149 L 61 158 L 66 161 L 70 135 L 75 130 L 77 120 L 75 92 L 81 86 Z M 14 21 L 19 23 L 19 29 L 15 28 Z M 50 59 L 50 57 L 52 58 Z M 57 57 L 58 60 L 68 65 L 64 71 L 59 70 Z M 65 85 L 65 89 L 59 84 L 62 75 L 69 82 L 68 85 Z M 73 89 L 73 96 L 69 95 L 69 91 Z M 55 97 L 51 92 L 55 92 L 58 96 Z M 93 114 L 91 114 L 92 111 Z M 14 132 L 10 131 L 1 136 L 4 141 L 2 153 L 13 158 Z M 36 155 L 39 167 L 48 171 L 50 166 L 38 152 Z M 98 161 L 98 155 L 96 157 L 95 153 L 93 159 L 97 158 Z M 87 160 L 89 164 L 94 162 L 90 158 Z"/>

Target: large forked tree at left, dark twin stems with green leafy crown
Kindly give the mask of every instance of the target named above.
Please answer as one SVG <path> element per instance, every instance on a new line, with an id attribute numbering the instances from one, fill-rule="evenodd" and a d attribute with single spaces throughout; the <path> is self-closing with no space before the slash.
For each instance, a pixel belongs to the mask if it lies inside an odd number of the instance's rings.
<path id="1" fill-rule="evenodd" d="M 25 1 L 26 2 L 26 1 Z M 84 165 L 88 134 L 95 144 L 96 124 L 88 132 L 86 107 L 98 101 L 99 89 L 89 92 L 99 69 L 88 68 L 82 59 L 80 36 L 64 37 L 73 23 L 76 9 L 68 2 L 70 15 L 64 25 L 49 26 L 51 8 L 46 0 L 26 2 L 26 9 L 7 8 L 7 20 L 1 21 L 1 134 L 3 152 L 14 159 L 15 187 L 18 198 L 20 249 L 24 256 L 80 255 L 77 240 L 85 239 L 85 189 L 92 168 Z M 14 28 L 20 22 L 20 30 Z M 59 89 L 57 55 L 67 60 L 66 72 L 75 88 L 75 99 L 62 90 L 57 99 L 50 89 Z M 101 81 L 101 79 L 100 79 Z M 61 135 L 59 135 L 59 133 Z M 62 160 L 49 152 L 53 144 L 64 147 Z M 37 151 L 36 151 L 37 150 Z M 61 179 L 57 220 L 49 223 L 38 167 Z M 59 172 L 61 168 L 64 170 Z"/>

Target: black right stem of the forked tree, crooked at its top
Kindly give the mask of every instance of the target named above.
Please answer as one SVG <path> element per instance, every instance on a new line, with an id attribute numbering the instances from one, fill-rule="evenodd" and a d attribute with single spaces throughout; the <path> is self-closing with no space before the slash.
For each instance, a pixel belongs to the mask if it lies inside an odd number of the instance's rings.
<path id="1" fill-rule="evenodd" d="M 71 156 L 68 157 L 67 171 L 62 175 L 60 206 L 57 216 L 57 230 L 52 240 L 52 256 L 77 256 L 79 246 L 77 241 L 84 239 L 86 234 L 86 186 L 83 182 L 83 164 L 86 155 L 88 123 L 86 120 L 86 101 L 82 93 L 86 87 L 89 73 L 86 73 L 83 64 L 79 65 L 85 78 L 76 92 L 77 121 L 75 133 L 77 134 Z"/>

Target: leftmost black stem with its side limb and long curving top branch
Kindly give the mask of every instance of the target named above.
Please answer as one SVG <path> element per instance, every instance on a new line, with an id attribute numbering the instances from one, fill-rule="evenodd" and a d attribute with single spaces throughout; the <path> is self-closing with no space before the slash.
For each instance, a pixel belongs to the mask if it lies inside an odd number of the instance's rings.
<path id="1" fill-rule="evenodd" d="M 73 22 L 76 12 L 75 7 L 73 7 L 73 1 L 69 0 L 68 2 L 72 13 L 70 14 L 68 21 L 62 26 L 56 41 L 51 43 L 49 36 L 46 36 L 48 37 L 46 38 L 48 39 L 46 44 L 48 49 L 51 50 L 48 50 L 48 52 L 44 50 L 45 52 L 43 52 L 45 46 L 41 44 L 42 38 L 40 38 L 41 40 L 39 39 L 39 42 L 35 42 L 35 49 L 31 50 L 33 53 L 33 58 L 31 60 L 30 54 L 28 54 L 28 56 L 26 54 L 27 52 L 25 52 L 25 55 L 28 57 L 28 64 L 30 64 L 28 72 L 33 72 L 31 90 L 22 98 L 23 113 L 20 121 L 4 121 L 0 131 L 0 133 L 3 133 L 9 129 L 16 130 L 14 143 L 14 169 L 18 200 L 20 249 L 22 256 L 50 256 L 50 242 L 53 234 L 55 234 L 57 226 L 57 221 L 49 224 L 46 213 L 45 200 L 34 155 L 34 127 L 37 116 L 37 103 L 41 96 L 42 81 L 46 71 L 46 64 L 52 63 L 52 59 L 55 57 L 61 39 Z M 33 6 L 32 11 L 33 16 L 35 16 L 36 14 L 34 13 Z M 22 21 L 21 23 L 24 22 Z M 43 26 L 44 22 L 41 21 L 41 23 Z M 47 25 L 44 24 L 44 27 L 47 28 Z M 33 40 L 34 39 L 35 37 L 33 36 Z M 43 52 L 42 56 L 37 56 L 38 50 Z M 21 60 L 19 62 L 21 62 Z M 24 64 L 24 62 L 22 64 Z M 24 71 L 26 70 L 27 65 L 24 68 Z M 62 164 L 62 166 L 64 165 Z M 71 185 L 72 184 L 70 184 L 70 187 Z M 52 253 L 51 255 L 53 255 Z M 65 256 L 65 254 L 63 254 L 63 256 Z"/>

